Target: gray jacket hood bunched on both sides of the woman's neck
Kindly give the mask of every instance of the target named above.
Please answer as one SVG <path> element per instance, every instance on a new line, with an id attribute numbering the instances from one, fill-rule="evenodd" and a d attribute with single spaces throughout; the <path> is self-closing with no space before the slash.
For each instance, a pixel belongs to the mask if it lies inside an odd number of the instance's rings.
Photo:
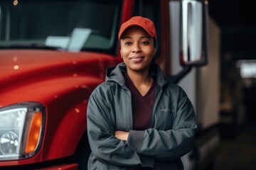
<path id="1" fill-rule="evenodd" d="M 120 86 L 124 86 L 125 80 L 123 75 L 126 72 L 127 66 L 126 64 L 124 64 L 124 62 L 117 64 L 117 66 L 107 69 L 105 81 L 114 81 Z M 156 62 L 154 62 L 154 60 L 152 61 L 149 74 L 151 75 L 151 77 L 154 77 L 154 79 L 156 79 L 156 82 L 157 84 L 159 84 L 159 86 L 164 86 L 164 84 L 166 84 L 166 81 L 168 81 L 167 77 L 164 76 L 161 68 L 159 67 L 159 65 L 156 64 Z"/>

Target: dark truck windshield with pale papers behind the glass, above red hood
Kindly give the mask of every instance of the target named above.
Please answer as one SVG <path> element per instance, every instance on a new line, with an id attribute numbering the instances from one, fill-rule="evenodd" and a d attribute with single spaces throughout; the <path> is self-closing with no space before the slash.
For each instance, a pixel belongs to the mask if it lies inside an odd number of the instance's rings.
<path id="1" fill-rule="evenodd" d="M 110 51 L 120 1 L 1 0 L 0 47 Z"/>

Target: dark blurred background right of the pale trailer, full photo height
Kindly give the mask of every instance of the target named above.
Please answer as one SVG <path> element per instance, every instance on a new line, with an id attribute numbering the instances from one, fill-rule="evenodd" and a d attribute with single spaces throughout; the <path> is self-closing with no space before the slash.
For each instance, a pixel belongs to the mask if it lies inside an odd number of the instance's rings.
<path id="1" fill-rule="evenodd" d="M 216 170 L 256 169 L 256 81 L 242 79 L 238 68 L 238 60 L 256 60 L 254 4 L 241 0 L 208 1 L 209 15 L 220 27 L 220 103 L 225 100 L 223 94 L 228 94 L 234 103 L 230 111 L 234 118 L 241 108 L 245 112 L 242 125 L 220 124 L 221 145 L 213 168 Z M 221 116 L 220 111 L 220 119 Z"/>

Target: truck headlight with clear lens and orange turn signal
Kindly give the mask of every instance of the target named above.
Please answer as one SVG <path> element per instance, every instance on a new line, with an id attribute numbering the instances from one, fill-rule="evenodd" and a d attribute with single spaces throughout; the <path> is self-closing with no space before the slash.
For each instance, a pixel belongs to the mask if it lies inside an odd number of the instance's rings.
<path id="1" fill-rule="evenodd" d="M 32 157 L 41 147 L 45 124 L 41 103 L 16 103 L 0 108 L 0 161 Z"/>

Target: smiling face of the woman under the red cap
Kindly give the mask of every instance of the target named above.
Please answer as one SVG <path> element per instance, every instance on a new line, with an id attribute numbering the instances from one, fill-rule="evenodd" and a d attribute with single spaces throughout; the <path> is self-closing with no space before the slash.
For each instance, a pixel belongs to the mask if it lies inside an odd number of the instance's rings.
<path id="1" fill-rule="evenodd" d="M 121 56 L 127 72 L 148 72 L 156 53 L 154 39 L 143 28 L 127 28 L 121 38 Z"/>

